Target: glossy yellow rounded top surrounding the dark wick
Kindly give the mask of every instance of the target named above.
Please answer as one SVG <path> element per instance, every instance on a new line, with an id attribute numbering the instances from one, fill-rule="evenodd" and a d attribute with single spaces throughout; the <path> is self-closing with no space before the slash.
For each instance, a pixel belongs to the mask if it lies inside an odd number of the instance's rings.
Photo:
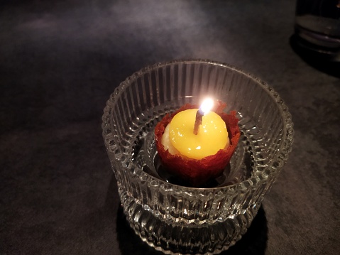
<path id="1" fill-rule="evenodd" d="M 202 159 L 229 146 L 228 131 L 221 116 L 209 112 L 202 117 L 198 134 L 194 134 L 194 121 L 198 109 L 188 109 L 177 113 L 169 126 L 172 146 L 188 158 Z"/>

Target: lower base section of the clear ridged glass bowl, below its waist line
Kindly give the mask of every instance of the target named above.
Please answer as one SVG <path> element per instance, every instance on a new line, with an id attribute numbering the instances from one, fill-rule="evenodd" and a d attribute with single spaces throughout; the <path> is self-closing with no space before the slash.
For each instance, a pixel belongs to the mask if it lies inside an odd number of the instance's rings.
<path id="1" fill-rule="evenodd" d="M 165 254 L 219 254 L 233 246 L 247 232 L 261 203 L 231 215 L 224 222 L 201 225 L 172 222 L 157 217 L 134 202 L 126 192 L 121 193 L 124 214 L 143 242 Z"/>

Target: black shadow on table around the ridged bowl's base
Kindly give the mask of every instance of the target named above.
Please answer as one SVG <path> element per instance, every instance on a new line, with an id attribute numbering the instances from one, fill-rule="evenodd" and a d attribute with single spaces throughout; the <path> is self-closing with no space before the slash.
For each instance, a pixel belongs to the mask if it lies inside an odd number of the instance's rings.
<path id="1" fill-rule="evenodd" d="M 119 242 L 119 249 L 123 255 L 161 255 L 160 251 L 155 251 L 148 244 L 144 243 L 131 229 L 126 221 L 126 217 L 121 207 L 117 212 L 117 238 Z M 267 219 L 265 218 L 265 211 L 263 207 L 258 210 L 258 214 L 253 219 L 251 227 L 248 232 L 243 235 L 242 239 L 234 246 L 231 246 L 227 251 L 222 251 L 221 255 L 233 254 L 265 254 L 267 246 Z"/>

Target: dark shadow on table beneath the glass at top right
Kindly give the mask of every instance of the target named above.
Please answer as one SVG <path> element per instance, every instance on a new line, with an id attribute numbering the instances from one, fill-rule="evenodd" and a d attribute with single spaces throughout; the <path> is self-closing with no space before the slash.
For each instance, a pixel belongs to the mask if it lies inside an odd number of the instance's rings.
<path id="1" fill-rule="evenodd" d="M 308 65 L 320 72 L 340 78 L 340 62 L 338 62 L 340 60 L 333 61 L 332 59 L 334 57 L 332 55 L 322 53 L 322 51 L 317 52 L 316 50 L 312 50 L 312 46 L 309 47 L 306 42 L 300 40 L 295 35 L 290 37 L 290 47 L 292 47 L 292 50 Z M 339 52 L 338 55 L 340 55 Z"/>

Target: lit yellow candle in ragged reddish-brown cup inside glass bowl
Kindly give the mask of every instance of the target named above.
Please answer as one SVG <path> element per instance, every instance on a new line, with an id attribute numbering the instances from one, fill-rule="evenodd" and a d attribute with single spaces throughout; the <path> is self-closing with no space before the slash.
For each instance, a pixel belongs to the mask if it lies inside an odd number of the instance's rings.
<path id="1" fill-rule="evenodd" d="M 223 173 L 241 134 L 236 112 L 226 114 L 225 107 L 219 100 L 207 108 L 205 101 L 199 108 L 185 104 L 163 117 L 155 127 L 155 144 L 168 173 L 194 187 Z"/>

